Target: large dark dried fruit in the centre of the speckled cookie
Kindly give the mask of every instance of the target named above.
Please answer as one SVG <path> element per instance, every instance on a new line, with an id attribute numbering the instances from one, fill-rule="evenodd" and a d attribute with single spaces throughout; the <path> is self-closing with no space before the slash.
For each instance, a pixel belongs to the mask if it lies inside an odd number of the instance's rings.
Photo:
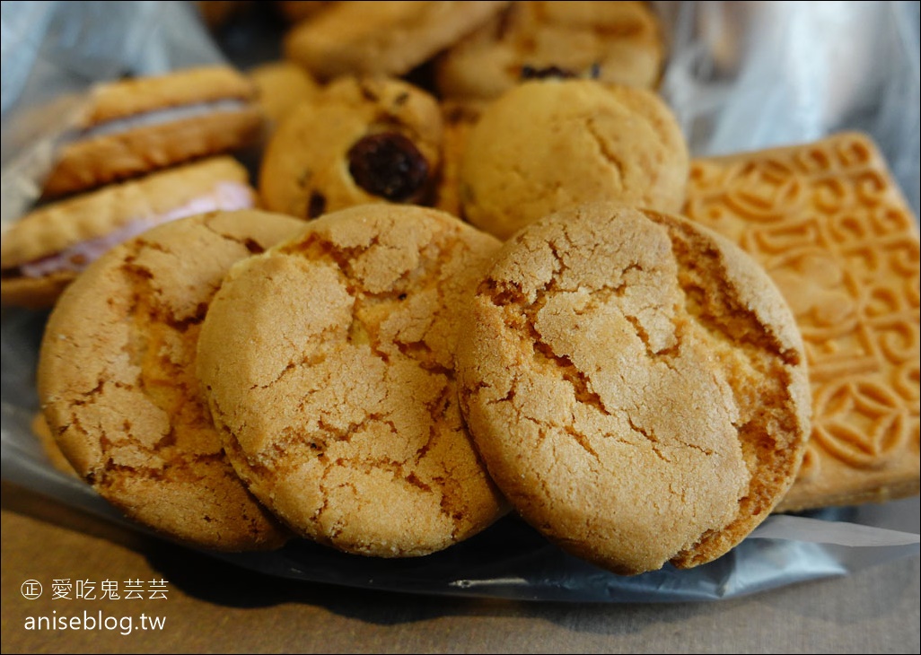
<path id="1" fill-rule="evenodd" d="M 348 160 L 356 184 L 389 201 L 410 200 L 428 178 L 426 157 L 399 132 L 368 134 L 349 148 Z"/>

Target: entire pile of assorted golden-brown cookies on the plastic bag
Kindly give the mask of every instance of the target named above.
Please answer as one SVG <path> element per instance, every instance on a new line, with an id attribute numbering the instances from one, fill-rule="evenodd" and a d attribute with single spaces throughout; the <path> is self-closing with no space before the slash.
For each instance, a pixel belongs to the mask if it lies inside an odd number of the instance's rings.
<path id="1" fill-rule="evenodd" d="M 645 3 L 276 5 L 284 61 L 107 87 L 63 151 L 95 181 L 4 236 L 42 418 L 127 516 L 416 557 L 515 511 L 631 575 L 918 492 L 917 226 L 867 137 L 693 160 Z M 249 204 L 166 206 L 243 147 Z"/>

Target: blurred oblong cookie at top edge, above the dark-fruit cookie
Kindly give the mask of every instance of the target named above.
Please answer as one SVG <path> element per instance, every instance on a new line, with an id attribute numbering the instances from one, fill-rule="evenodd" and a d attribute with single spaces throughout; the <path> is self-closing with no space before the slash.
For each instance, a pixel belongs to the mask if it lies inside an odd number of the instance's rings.
<path id="1" fill-rule="evenodd" d="M 295 24 L 286 58 L 321 81 L 409 73 L 507 2 L 341 2 Z"/>

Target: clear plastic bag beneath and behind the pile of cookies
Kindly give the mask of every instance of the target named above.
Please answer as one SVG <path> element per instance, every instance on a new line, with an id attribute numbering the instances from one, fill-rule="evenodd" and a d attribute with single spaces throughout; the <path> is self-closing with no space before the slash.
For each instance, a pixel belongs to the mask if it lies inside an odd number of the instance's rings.
<path id="1" fill-rule="evenodd" d="M 798 144 L 844 130 L 867 132 L 918 214 L 917 3 L 653 5 L 669 47 L 660 91 L 693 155 Z M 5 3 L 2 33 L 4 228 L 37 197 L 54 144 L 88 86 L 121 75 L 226 61 L 227 52 L 186 3 Z M 278 36 L 244 30 L 234 35 L 235 51 L 273 52 Z M 144 531 L 82 481 L 55 469 L 30 431 L 38 411 L 35 365 L 46 317 L 3 311 L 3 478 Z M 513 515 L 426 557 L 357 557 L 304 540 L 270 553 L 212 555 L 272 576 L 400 592 L 542 601 L 710 601 L 917 557 L 918 517 L 917 497 L 772 516 L 717 561 L 632 577 L 565 554 Z"/>

